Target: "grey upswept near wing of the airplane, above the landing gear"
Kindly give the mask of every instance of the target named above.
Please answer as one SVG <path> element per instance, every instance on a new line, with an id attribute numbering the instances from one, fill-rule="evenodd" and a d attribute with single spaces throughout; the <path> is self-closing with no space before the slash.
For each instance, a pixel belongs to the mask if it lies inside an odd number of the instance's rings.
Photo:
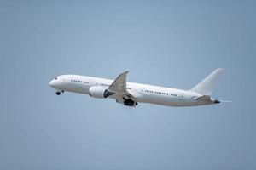
<path id="1" fill-rule="evenodd" d="M 108 90 L 114 93 L 119 99 L 135 99 L 129 92 L 126 90 L 126 77 L 129 71 L 125 71 L 119 74 L 113 83 L 108 87 Z"/>

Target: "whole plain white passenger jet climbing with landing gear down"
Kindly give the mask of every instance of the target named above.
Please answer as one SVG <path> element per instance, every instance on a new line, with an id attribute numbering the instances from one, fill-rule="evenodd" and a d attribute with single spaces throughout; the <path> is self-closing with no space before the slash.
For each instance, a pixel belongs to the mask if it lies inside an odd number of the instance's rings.
<path id="1" fill-rule="evenodd" d="M 50 81 L 49 86 L 55 88 L 57 95 L 65 91 L 89 94 L 93 98 L 115 99 L 119 104 L 134 107 L 138 103 L 166 106 L 212 105 L 222 102 L 211 97 L 222 71 L 223 69 L 216 69 L 189 90 L 126 82 L 129 71 L 119 74 L 114 80 L 79 75 L 61 75 Z"/>

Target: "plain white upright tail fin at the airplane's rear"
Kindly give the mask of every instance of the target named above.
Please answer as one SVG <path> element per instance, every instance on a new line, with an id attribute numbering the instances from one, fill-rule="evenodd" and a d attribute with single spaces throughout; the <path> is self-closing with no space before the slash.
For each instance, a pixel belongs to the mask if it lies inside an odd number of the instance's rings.
<path id="1" fill-rule="evenodd" d="M 209 76 L 196 84 L 194 88 L 190 89 L 190 91 L 202 95 L 211 95 L 217 79 L 222 71 L 223 69 L 216 69 Z"/>

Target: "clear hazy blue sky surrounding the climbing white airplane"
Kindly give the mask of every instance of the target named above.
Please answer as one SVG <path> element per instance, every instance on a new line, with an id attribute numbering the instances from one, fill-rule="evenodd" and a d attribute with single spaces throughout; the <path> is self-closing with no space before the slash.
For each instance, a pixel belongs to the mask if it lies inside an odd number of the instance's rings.
<path id="1" fill-rule="evenodd" d="M 253 1 L 1 1 L 0 169 L 256 169 Z M 73 73 L 231 104 L 125 107 L 48 85 Z"/>

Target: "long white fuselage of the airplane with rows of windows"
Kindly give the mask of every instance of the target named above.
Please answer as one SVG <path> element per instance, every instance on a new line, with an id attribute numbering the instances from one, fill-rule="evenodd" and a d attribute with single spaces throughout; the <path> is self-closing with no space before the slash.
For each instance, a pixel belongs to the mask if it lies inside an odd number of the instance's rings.
<path id="1" fill-rule="evenodd" d="M 114 80 L 85 77 L 79 75 L 61 75 L 55 77 L 49 82 L 52 88 L 55 88 L 56 94 L 61 92 L 73 92 L 79 94 L 90 94 L 90 89 L 108 89 Z M 135 103 L 150 103 L 167 106 L 194 106 L 194 105 L 211 105 L 219 103 L 217 99 L 199 99 L 202 94 L 195 93 L 191 90 L 181 90 L 176 88 L 164 88 L 148 84 L 126 82 L 126 91 L 135 99 Z M 92 97 L 104 99 L 103 94 L 90 94 Z M 124 99 L 120 99 L 118 94 L 109 95 L 108 98 L 116 99 L 118 103 L 124 104 Z M 135 105 L 130 105 L 135 106 Z"/>

